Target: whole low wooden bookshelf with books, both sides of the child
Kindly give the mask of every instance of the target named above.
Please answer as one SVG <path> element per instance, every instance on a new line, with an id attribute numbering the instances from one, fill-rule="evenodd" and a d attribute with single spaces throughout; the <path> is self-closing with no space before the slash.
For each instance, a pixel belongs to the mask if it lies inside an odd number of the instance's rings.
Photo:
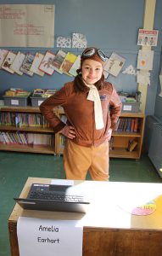
<path id="1" fill-rule="evenodd" d="M 60 119 L 64 121 L 64 109 L 55 108 L 55 113 L 59 116 Z M 20 118 L 24 117 L 27 119 L 24 124 L 22 121 L 21 125 L 12 124 L 8 120 L 8 116 L 13 119 L 13 116 L 19 113 Z M 59 132 L 54 133 L 53 129 L 43 122 L 37 125 L 35 124 L 35 119 L 40 115 L 39 108 L 34 107 L 1 107 L 0 108 L 1 121 L 0 121 L 0 139 L 2 139 L 2 133 L 6 135 L 6 140 L 15 139 L 14 134 L 18 134 L 21 141 L 18 143 L 2 143 L 0 142 L 0 150 L 5 151 L 17 151 L 17 152 L 28 152 L 28 153 L 41 153 L 41 154 L 63 154 L 64 153 L 64 136 Z M 13 115 L 12 115 L 13 114 Z M 21 116 L 22 114 L 22 116 Z M 6 123 L 3 119 L 7 119 Z M 19 115 L 18 115 L 19 116 Z M 29 121 L 34 119 L 34 123 Z M 139 159 L 142 153 L 142 139 L 145 125 L 145 115 L 143 113 L 121 113 L 120 119 L 137 119 L 138 127 L 137 131 L 113 131 L 112 141 L 110 143 L 109 156 L 115 158 L 130 158 L 130 159 Z M 13 121 L 13 120 L 12 120 Z M 30 124 L 29 124 L 30 123 Z M 33 137 L 34 138 L 33 138 Z M 26 143 L 26 137 L 32 137 L 33 140 L 36 140 L 35 143 Z M 31 138 L 30 138 L 31 139 Z M 136 147 L 132 151 L 128 151 L 128 144 L 130 141 L 136 142 Z M 24 142 L 24 143 L 23 143 Z"/>

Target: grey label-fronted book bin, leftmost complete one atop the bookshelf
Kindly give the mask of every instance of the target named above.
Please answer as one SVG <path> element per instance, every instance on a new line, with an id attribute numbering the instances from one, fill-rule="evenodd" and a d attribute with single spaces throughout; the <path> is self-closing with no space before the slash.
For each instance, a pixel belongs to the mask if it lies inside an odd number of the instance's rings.
<path id="1" fill-rule="evenodd" d="M 26 107 L 29 102 L 29 96 L 3 96 L 5 106 Z"/>

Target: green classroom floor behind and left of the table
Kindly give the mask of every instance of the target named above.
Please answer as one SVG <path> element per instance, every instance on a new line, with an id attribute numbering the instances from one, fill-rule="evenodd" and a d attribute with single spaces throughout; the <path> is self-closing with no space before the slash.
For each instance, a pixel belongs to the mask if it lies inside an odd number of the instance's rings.
<path id="1" fill-rule="evenodd" d="M 110 182 L 162 183 L 148 156 L 141 160 L 110 159 Z M 48 154 L 0 152 L 0 255 L 9 256 L 8 218 L 14 197 L 27 177 L 64 178 L 63 158 Z M 87 179 L 90 177 L 87 175 Z"/>

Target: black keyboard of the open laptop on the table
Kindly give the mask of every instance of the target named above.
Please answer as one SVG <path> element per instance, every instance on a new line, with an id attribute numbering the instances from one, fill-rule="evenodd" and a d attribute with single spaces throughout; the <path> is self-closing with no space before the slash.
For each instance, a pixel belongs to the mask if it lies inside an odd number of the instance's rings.
<path id="1" fill-rule="evenodd" d="M 48 201 L 67 201 L 67 202 L 83 202 L 84 197 L 82 195 L 57 195 L 49 192 L 31 192 L 28 197 L 30 199 L 40 199 Z"/>

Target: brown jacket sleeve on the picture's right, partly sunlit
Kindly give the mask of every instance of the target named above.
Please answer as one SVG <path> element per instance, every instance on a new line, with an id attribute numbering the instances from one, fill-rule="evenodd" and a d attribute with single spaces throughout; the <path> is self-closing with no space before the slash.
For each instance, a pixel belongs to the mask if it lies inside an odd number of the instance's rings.
<path id="1" fill-rule="evenodd" d="M 111 118 L 110 128 L 115 130 L 117 121 L 120 117 L 122 102 L 120 101 L 120 97 L 118 96 L 114 86 L 113 86 L 112 95 L 111 95 L 109 104 L 110 104 L 110 118 Z"/>

